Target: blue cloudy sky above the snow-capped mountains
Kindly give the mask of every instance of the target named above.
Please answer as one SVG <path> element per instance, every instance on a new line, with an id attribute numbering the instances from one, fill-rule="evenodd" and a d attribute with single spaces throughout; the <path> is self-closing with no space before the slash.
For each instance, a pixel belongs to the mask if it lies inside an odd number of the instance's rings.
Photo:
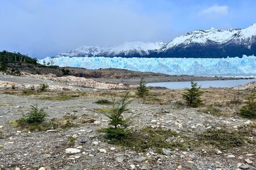
<path id="1" fill-rule="evenodd" d="M 255 0 L 0 0 L 0 6 L 0 51 L 34 58 L 256 23 Z"/>

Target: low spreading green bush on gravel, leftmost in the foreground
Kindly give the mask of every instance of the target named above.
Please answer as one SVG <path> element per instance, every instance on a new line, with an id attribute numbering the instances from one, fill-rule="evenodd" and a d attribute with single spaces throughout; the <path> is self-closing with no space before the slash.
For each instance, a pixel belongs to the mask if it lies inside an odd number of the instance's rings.
<path id="1" fill-rule="evenodd" d="M 43 109 L 39 109 L 37 106 L 31 106 L 30 112 L 23 115 L 23 118 L 18 120 L 18 124 L 41 124 L 46 120 L 48 116 Z"/>

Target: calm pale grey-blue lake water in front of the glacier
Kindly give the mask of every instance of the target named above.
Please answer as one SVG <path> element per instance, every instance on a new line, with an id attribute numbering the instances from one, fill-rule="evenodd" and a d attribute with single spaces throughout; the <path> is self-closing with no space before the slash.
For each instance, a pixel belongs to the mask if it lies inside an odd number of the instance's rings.
<path id="1" fill-rule="evenodd" d="M 256 79 L 200 81 L 200 82 L 197 82 L 197 85 L 201 86 L 202 88 L 234 87 L 234 86 L 243 85 L 249 82 L 256 82 Z M 154 86 L 154 87 L 159 86 L 159 87 L 166 87 L 170 89 L 179 89 L 179 88 L 190 88 L 191 82 L 148 83 L 147 86 Z"/>

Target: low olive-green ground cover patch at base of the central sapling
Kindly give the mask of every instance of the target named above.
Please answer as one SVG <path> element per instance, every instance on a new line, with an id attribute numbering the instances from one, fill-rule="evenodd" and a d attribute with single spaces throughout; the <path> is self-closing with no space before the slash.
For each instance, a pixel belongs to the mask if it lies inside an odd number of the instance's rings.
<path id="1" fill-rule="evenodd" d="M 143 128 L 140 131 L 133 131 L 123 138 L 112 139 L 109 143 L 122 148 L 133 148 L 137 151 L 145 151 L 148 148 L 152 148 L 160 154 L 163 154 L 163 148 L 186 150 L 195 145 L 195 141 L 176 131 L 163 130 L 162 128 L 152 129 L 150 127 Z"/>

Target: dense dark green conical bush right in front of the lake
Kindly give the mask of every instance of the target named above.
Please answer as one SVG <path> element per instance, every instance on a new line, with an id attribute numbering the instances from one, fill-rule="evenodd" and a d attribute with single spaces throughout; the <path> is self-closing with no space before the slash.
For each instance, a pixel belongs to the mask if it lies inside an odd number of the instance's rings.
<path id="1" fill-rule="evenodd" d="M 202 94 L 203 92 L 200 91 L 200 87 L 197 87 L 197 83 L 191 82 L 191 88 L 187 88 L 183 93 L 183 99 L 189 107 L 196 108 L 203 104 Z"/>

